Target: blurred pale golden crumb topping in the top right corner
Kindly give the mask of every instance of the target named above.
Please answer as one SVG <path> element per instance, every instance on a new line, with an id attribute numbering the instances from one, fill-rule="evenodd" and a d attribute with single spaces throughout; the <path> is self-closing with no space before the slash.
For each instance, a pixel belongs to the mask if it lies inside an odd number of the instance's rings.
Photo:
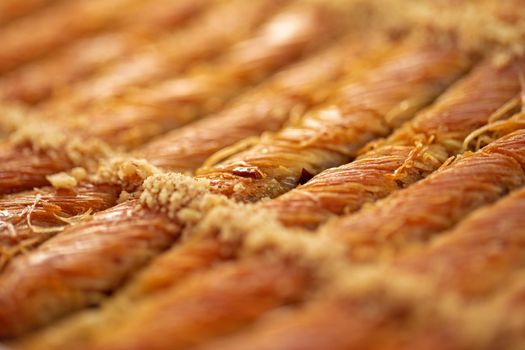
<path id="1" fill-rule="evenodd" d="M 363 6 L 394 27 L 450 34 L 460 47 L 476 52 L 495 49 L 499 63 L 525 53 L 525 10 L 519 0 L 372 0 Z"/>

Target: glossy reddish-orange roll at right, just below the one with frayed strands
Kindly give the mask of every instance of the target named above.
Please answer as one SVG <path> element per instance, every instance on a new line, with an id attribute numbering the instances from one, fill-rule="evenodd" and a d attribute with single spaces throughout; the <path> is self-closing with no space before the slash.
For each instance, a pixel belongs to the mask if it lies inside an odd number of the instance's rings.
<path id="1" fill-rule="evenodd" d="M 323 232 L 345 242 L 359 260 L 425 241 L 521 186 L 524 145 L 523 130 L 510 134 L 356 215 L 328 222 Z"/>

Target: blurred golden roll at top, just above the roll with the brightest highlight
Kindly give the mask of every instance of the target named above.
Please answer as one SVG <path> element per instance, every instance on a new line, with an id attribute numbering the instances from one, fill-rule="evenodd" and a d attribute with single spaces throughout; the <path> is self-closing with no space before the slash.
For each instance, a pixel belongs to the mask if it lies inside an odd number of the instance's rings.
<path id="1" fill-rule="evenodd" d="M 156 39 L 152 45 L 57 94 L 43 106 L 44 110 L 56 118 L 57 113 L 84 110 L 119 97 L 130 88 L 177 76 L 253 35 L 282 4 L 277 0 L 219 1 L 182 30 Z"/>

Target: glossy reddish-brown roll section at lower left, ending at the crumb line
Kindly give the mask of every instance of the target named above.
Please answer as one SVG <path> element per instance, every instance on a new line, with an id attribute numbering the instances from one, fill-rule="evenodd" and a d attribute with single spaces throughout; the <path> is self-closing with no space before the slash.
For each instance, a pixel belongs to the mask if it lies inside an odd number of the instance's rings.
<path id="1" fill-rule="evenodd" d="M 121 234 L 111 234 L 109 227 Z M 167 248 L 178 232 L 176 223 L 141 210 L 136 201 L 95 214 L 75 225 L 74 234 L 66 229 L 38 251 L 15 259 L 3 272 L 0 283 L 6 294 L 0 296 L 4 311 L 0 336 L 20 334 L 68 311 L 99 303 L 105 291 L 117 288 L 130 271 Z M 27 279 L 21 270 L 29 273 Z M 8 294 L 16 294 L 16 299 Z M 56 297 L 59 303 L 49 302 Z M 15 318 L 9 316 L 12 312 Z"/>

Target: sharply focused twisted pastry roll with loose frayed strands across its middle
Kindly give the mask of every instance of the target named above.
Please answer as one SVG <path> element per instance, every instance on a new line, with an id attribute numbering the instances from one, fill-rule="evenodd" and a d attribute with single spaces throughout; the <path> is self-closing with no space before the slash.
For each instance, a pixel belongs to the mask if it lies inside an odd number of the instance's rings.
<path id="1" fill-rule="evenodd" d="M 263 203 L 290 226 L 316 228 L 328 218 L 407 187 L 461 151 L 465 137 L 517 96 L 523 60 L 505 68 L 480 64 L 438 102 L 354 162 L 323 171 Z M 486 84 L 490 81 L 491 84 Z"/>

